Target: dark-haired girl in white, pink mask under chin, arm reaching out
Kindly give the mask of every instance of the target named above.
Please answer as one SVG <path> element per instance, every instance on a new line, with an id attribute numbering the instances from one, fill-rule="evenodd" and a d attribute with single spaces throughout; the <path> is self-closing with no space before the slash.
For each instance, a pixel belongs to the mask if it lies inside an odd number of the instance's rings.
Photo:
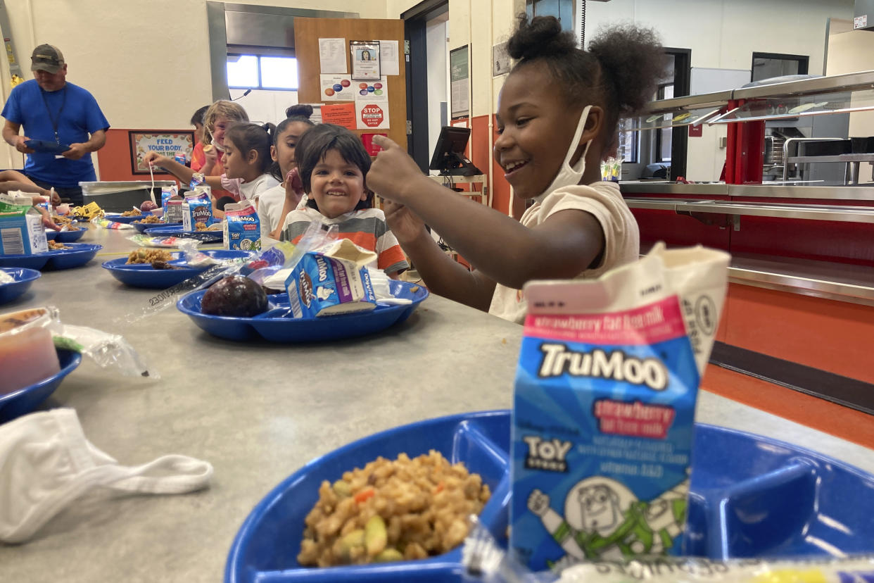
<path id="1" fill-rule="evenodd" d="M 224 132 L 225 174 L 204 179 L 213 189 L 222 188 L 231 193 L 232 198 L 219 198 L 216 202 L 217 216 L 224 216 L 222 211 L 230 202 L 248 199 L 257 206 L 260 194 L 279 184 L 279 167 L 270 158 L 273 129 L 269 123 L 264 126 L 237 123 Z M 194 175 L 191 168 L 156 152 L 149 152 L 143 160 L 170 170 L 184 184 L 191 182 Z"/>

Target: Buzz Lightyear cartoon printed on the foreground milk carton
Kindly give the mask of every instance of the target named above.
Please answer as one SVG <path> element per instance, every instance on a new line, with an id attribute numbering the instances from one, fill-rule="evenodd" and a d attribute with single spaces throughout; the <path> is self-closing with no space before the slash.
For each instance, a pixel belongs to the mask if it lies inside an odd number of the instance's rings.
<path id="1" fill-rule="evenodd" d="M 550 498 L 531 490 L 528 510 L 540 517 L 552 538 L 572 559 L 618 560 L 657 555 L 674 544 L 686 520 L 689 478 L 649 502 L 621 482 L 596 475 L 577 482 L 565 498 L 565 516 Z"/>

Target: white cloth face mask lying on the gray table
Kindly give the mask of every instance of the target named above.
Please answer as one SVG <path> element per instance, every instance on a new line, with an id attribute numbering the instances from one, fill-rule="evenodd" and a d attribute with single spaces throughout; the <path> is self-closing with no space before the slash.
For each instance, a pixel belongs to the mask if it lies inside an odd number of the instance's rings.
<path id="1" fill-rule="evenodd" d="M 31 413 L 0 425 L 0 540 L 23 543 L 97 486 L 140 494 L 205 488 L 212 465 L 164 455 L 121 466 L 88 441 L 73 409 Z"/>

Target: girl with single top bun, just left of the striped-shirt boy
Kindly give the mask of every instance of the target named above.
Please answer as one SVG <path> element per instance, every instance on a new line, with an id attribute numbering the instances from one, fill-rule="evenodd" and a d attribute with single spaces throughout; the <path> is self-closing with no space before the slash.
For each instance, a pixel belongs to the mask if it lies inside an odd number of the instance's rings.
<path id="1" fill-rule="evenodd" d="M 258 218 L 261 223 L 261 241 L 268 237 L 279 239 L 281 226 L 289 212 L 306 203 L 300 175 L 295 170 L 295 146 L 303 132 L 315 124 L 309 121 L 313 107 L 295 105 L 286 110 L 288 118 L 281 121 L 274 132 L 274 145 L 270 156 L 279 164 L 280 176 L 285 181 L 264 191 L 258 203 Z"/>

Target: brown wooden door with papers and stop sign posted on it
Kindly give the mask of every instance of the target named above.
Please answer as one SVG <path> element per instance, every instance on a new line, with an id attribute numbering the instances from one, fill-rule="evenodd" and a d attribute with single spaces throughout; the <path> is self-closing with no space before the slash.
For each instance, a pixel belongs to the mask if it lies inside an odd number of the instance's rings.
<path id="1" fill-rule="evenodd" d="M 372 18 L 295 18 L 295 57 L 297 58 L 300 103 L 342 103 L 325 101 L 321 86 L 319 38 L 344 38 L 347 71 L 351 73 L 350 40 L 396 40 L 399 47 L 397 75 L 386 78 L 389 128 L 354 129 L 356 134 L 388 134 L 406 150 L 406 63 L 404 60 L 404 21 Z M 385 74 L 385 73 L 384 73 Z M 352 81 L 353 84 L 357 81 Z M 350 101 L 353 101 L 350 99 Z M 350 102 L 345 101 L 345 102 Z"/>

